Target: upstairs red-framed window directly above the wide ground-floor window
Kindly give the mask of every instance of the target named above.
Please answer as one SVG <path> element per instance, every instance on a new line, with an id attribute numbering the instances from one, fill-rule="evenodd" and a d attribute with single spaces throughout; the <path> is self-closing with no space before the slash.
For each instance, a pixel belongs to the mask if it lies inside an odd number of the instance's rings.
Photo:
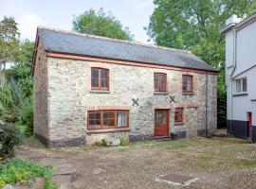
<path id="1" fill-rule="evenodd" d="M 93 90 L 108 90 L 109 73 L 107 69 L 92 68 L 91 86 Z"/>

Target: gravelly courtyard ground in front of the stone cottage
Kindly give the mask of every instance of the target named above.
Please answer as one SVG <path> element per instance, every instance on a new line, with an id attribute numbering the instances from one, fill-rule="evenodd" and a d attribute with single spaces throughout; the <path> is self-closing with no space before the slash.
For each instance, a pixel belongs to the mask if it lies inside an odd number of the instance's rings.
<path id="1" fill-rule="evenodd" d="M 145 141 L 129 146 L 55 149 L 27 142 L 17 148 L 17 153 L 36 161 L 58 157 L 61 163 L 72 164 L 76 172 L 73 173 L 74 178 L 69 179 L 74 189 L 256 188 L 256 145 L 233 138 Z M 189 186 L 155 181 L 155 178 L 167 174 L 198 180 Z M 63 177 L 62 180 L 68 178 Z"/>

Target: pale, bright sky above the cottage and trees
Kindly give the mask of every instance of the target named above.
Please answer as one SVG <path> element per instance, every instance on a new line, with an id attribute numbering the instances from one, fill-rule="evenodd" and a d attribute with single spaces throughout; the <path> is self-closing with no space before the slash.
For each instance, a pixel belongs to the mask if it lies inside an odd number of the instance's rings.
<path id="1" fill-rule="evenodd" d="M 155 8 L 153 0 L 0 0 L 0 20 L 12 16 L 19 24 L 21 39 L 34 41 L 37 26 L 72 29 L 74 15 L 88 9 L 104 9 L 128 26 L 137 42 L 147 43 L 144 26 Z"/>

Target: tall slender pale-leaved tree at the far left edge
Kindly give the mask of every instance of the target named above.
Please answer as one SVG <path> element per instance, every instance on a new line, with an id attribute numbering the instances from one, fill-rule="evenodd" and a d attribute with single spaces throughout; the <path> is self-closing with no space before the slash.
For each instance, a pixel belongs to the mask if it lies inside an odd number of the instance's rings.
<path id="1" fill-rule="evenodd" d="M 19 46 L 18 24 L 12 17 L 4 17 L 0 22 L 0 87 L 5 84 L 5 71 L 8 62 L 15 59 Z"/>

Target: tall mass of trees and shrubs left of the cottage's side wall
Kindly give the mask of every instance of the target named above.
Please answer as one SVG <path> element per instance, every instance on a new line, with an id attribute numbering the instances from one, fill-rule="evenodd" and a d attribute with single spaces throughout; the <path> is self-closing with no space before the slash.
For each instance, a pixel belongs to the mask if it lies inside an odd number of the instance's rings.
<path id="1" fill-rule="evenodd" d="M 0 63 L 1 66 L 9 63 L 11 67 L 5 70 L 2 66 L 0 70 L 0 77 L 4 80 L 0 86 L 0 119 L 8 122 L 19 120 L 31 128 L 32 56 L 33 43 L 27 40 L 20 42 L 17 23 L 13 18 L 5 17 L 0 22 Z"/>

